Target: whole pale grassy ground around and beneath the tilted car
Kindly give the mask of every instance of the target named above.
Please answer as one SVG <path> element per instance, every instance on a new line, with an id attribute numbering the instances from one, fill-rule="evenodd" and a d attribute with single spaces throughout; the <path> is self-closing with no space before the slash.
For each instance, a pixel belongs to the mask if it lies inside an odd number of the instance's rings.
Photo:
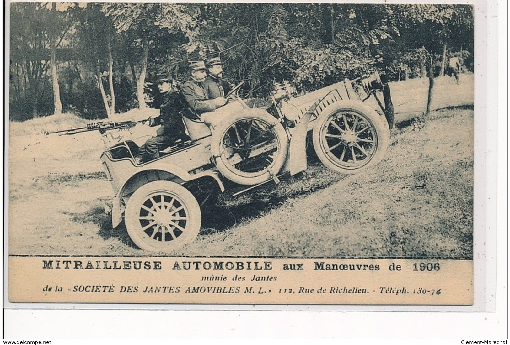
<path id="1" fill-rule="evenodd" d="M 149 254 L 111 228 L 100 135 L 46 138 L 42 130 L 83 124 L 52 120 L 11 123 L 9 253 Z M 220 196 L 198 239 L 168 254 L 471 258 L 473 110 L 444 109 L 398 127 L 386 159 L 362 174 L 337 175 L 311 157 L 305 176 Z M 151 131 L 137 126 L 133 137 L 143 142 Z"/>

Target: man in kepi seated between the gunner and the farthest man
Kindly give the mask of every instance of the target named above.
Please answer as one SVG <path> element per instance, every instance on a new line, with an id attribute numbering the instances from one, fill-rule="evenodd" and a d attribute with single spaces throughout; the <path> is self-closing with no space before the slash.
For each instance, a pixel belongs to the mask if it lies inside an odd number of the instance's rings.
<path id="1" fill-rule="evenodd" d="M 203 61 L 190 61 L 190 79 L 181 88 L 181 92 L 188 103 L 183 115 L 192 119 L 200 119 L 200 114 L 214 111 L 226 103 L 222 96 L 210 99 L 203 82 L 206 80 L 206 64 Z M 207 122 L 206 122 L 207 123 Z"/>

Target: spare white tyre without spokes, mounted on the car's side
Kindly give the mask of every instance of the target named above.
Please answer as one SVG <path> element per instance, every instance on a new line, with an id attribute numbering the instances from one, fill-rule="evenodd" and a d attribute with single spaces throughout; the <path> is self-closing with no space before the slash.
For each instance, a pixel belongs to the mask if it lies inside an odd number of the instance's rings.
<path id="1" fill-rule="evenodd" d="M 256 185 L 277 174 L 289 147 L 278 119 L 261 109 L 246 109 L 225 120 L 211 138 L 211 153 L 221 174 L 242 185 Z"/>

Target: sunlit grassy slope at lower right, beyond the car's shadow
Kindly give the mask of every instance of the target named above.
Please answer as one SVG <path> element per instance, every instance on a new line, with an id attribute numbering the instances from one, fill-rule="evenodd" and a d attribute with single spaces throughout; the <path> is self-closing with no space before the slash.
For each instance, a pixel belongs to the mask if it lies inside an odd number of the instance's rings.
<path id="1" fill-rule="evenodd" d="M 472 110 L 443 110 L 418 120 L 395 135 L 387 159 L 372 170 L 289 198 L 183 252 L 471 257 L 472 116 Z"/>

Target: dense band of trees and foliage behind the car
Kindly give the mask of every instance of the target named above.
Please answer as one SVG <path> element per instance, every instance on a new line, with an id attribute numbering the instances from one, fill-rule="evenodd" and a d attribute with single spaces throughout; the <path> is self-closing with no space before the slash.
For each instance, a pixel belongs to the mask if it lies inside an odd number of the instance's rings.
<path id="1" fill-rule="evenodd" d="M 117 112 L 154 99 L 158 75 L 183 83 L 187 60 L 213 55 L 227 80 L 246 81 L 244 93 L 259 98 L 274 81 L 311 91 L 357 77 L 367 64 L 397 80 L 403 70 L 423 76 L 431 56 L 437 75 L 445 45 L 446 57 L 457 53 L 474 66 L 467 5 L 57 3 L 52 13 L 48 4 L 10 5 L 11 119 L 52 112 L 45 50 L 52 37 L 60 41 L 64 111 L 87 118 L 105 116 L 98 80 L 108 85 L 108 41 Z"/>

